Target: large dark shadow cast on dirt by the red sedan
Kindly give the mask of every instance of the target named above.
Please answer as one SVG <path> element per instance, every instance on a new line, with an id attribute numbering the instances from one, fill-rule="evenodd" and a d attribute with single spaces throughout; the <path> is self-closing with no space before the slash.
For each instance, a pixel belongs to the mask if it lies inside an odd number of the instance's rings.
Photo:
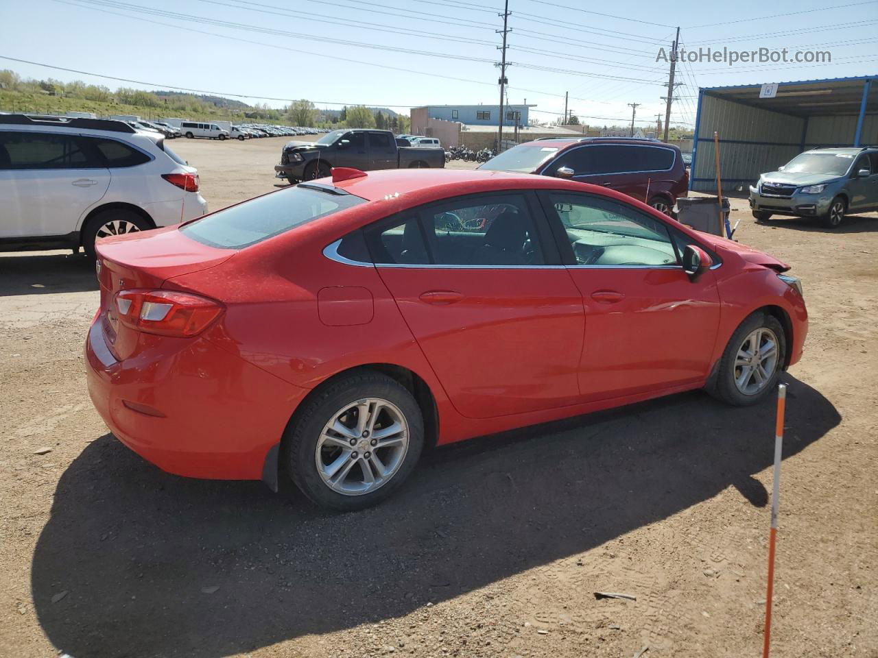
<path id="1" fill-rule="evenodd" d="M 785 457 L 840 421 L 788 379 Z M 261 483 L 165 475 L 108 434 L 61 476 L 32 596 L 76 658 L 246 652 L 406 615 L 730 485 L 764 505 L 752 474 L 773 451 L 774 404 L 690 393 L 435 450 L 385 504 L 334 515 Z"/>

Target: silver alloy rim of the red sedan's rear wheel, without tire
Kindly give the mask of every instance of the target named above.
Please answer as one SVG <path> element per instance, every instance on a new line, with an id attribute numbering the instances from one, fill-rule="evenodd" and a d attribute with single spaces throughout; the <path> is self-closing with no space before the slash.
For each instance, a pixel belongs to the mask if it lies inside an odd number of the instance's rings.
<path id="1" fill-rule="evenodd" d="M 361 496 L 396 475 L 408 443 L 408 423 L 399 407 L 366 397 L 343 406 L 323 426 L 314 460 L 327 487 L 345 496 Z"/>

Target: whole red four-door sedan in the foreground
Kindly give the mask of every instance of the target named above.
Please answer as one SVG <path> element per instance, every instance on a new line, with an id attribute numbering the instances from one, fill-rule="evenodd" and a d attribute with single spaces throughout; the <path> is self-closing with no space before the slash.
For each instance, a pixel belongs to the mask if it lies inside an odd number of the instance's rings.
<path id="1" fill-rule="evenodd" d="M 758 402 L 807 333 L 787 269 L 579 182 L 336 168 L 99 242 L 89 390 L 170 473 L 356 509 L 428 445 L 683 390 Z"/>

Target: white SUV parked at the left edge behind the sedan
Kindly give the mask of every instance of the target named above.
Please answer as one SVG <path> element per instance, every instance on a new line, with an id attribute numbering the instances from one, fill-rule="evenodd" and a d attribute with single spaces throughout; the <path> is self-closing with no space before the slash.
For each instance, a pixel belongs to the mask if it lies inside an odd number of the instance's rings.
<path id="1" fill-rule="evenodd" d="M 83 247 L 201 217 L 198 169 L 122 121 L 0 116 L 0 251 Z"/>

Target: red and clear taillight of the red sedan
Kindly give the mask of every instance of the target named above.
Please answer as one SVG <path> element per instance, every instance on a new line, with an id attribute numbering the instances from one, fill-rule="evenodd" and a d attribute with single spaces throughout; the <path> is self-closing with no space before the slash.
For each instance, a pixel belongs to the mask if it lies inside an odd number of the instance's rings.
<path id="1" fill-rule="evenodd" d="M 113 303 L 123 325 L 178 338 L 203 332 L 224 311 L 217 301 L 174 290 L 119 290 Z"/>

